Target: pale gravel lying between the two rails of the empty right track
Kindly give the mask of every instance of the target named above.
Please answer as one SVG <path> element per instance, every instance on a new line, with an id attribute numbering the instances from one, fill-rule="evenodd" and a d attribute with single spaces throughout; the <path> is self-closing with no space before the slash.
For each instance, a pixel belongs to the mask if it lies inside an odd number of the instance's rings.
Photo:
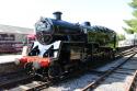
<path id="1" fill-rule="evenodd" d="M 116 70 L 116 72 L 113 72 L 94 91 L 126 91 L 137 69 L 137 59 L 135 61 L 136 57 L 137 55 L 135 55 L 134 58 L 132 58 L 124 66 L 122 66 L 122 69 L 118 69 Z"/>

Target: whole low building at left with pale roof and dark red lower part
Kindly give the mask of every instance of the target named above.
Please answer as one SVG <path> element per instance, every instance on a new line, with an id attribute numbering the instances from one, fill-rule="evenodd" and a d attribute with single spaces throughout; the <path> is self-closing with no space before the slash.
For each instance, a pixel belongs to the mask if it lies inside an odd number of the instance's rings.
<path id="1" fill-rule="evenodd" d="M 0 24 L 0 54 L 21 52 L 28 35 L 34 35 L 33 29 Z"/>

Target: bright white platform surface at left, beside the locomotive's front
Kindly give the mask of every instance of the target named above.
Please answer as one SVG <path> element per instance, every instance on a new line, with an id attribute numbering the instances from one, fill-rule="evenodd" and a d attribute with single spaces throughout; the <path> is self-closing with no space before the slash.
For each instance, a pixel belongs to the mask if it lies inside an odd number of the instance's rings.
<path id="1" fill-rule="evenodd" d="M 22 55 L 2 55 L 0 56 L 0 64 L 12 62 L 15 58 L 21 58 Z"/>

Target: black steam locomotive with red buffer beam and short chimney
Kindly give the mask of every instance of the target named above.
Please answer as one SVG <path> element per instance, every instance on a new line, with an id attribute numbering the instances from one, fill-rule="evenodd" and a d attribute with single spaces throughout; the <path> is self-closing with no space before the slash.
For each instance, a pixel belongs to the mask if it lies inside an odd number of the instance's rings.
<path id="1" fill-rule="evenodd" d="M 69 23 L 61 14 L 55 12 L 55 19 L 36 22 L 36 41 L 27 56 L 18 60 L 30 75 L 52 79 L 114 58 L 117 43 L 113 30 L 91 26 L 90 22 Z"/>

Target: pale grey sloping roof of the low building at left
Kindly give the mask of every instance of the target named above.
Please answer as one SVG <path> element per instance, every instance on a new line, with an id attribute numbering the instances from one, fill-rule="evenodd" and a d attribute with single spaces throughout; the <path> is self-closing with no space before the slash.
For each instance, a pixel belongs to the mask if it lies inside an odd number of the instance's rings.
<path id="1" fill-rule="evenodd" d="M 34 34 L 34 29 L 0 24 L 0 33 Z"/>

